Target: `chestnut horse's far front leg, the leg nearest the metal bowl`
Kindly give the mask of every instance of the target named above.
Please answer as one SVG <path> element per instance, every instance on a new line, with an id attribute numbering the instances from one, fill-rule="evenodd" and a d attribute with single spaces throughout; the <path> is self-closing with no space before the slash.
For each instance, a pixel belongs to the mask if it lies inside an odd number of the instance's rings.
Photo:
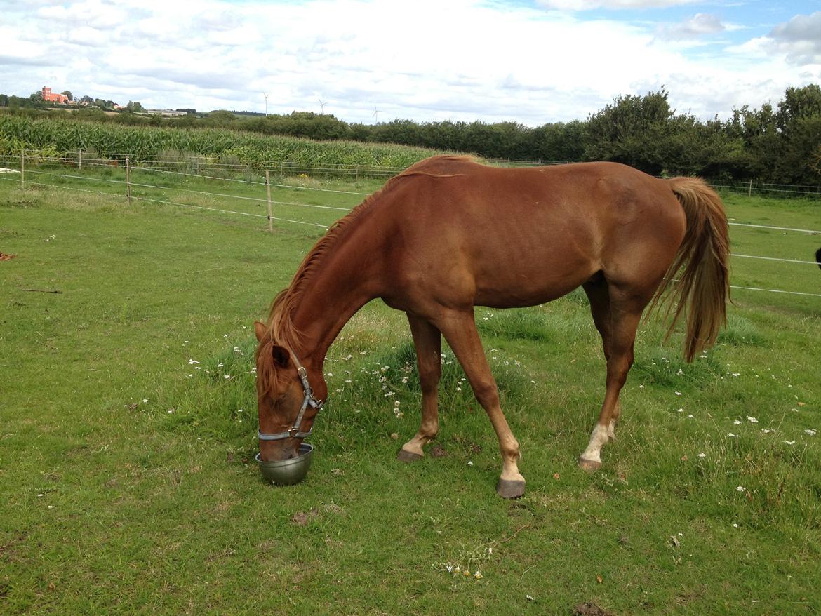
<path id="1" fill-rule="evenodd" d="M 422 422 L 419 431 L 397 454 L 402 462 L 413 462 L 424 456 L 423 447 L 439 431 L 438 386 L 442 375 L 442 334 L 429 321 L 408 315 L 410 333 L 416 347 L 416 365 L 422 387 Z"/>

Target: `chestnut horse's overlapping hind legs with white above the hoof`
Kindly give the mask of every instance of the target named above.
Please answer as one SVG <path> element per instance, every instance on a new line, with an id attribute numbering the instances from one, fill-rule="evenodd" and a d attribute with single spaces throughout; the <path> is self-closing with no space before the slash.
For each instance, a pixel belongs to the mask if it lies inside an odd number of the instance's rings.
<path id="1" fill-rule="evenodd" d="M 604 281 L 601 285 L 603 289 L 597 287 L 596 283 L 585 285 L 596 328 L 602 333 L 604 356 L 608 365 L 607 392 L 604 394 L 599 421 L 590 434 L 587 448 L 579 457 L 579 466 L 585 471 L 594 471 L 602 466 L 602 447 L 613 436 L 621 412 L 619 393 L 626 382 L 627 372 L 633 365 L 635 331 L 641 312 L 649 301 L 646 294 L 635 295 L 629 289 L 608 286 Z"/>

